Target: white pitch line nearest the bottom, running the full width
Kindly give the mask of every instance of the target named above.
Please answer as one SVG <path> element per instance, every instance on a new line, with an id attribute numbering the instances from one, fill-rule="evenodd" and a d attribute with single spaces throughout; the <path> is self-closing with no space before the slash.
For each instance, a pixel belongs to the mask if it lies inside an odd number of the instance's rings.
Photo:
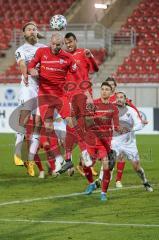
<path id="1" fill-rule="evenodd" d="M 139 228 L 159 228 L 159 224 L 140 224 L 140 223 L 107 223 L 107 222 L 90 222 L 90 221 L 55 221 L 55 220 L 34 220 L 34 219 L 0 219 L 0 222 L 24 222 L 24 223 L 53 223 L 53 224 L 70 224 L 70 225 L 103 225 L 110 227 L 139 227 Z"/>

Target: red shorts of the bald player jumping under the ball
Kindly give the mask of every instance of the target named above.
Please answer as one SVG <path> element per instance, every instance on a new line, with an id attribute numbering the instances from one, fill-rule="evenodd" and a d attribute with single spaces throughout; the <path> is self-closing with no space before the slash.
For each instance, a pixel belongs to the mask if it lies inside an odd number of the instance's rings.
<path id="1" fill-rule="evenodd" d="M 54 110 L 57 110 L 62 118 L 70 116 L 70 105 L 67 97 L 49 94 L 39 94 L 39 110 L 42 120 L 53 118 Z"/>

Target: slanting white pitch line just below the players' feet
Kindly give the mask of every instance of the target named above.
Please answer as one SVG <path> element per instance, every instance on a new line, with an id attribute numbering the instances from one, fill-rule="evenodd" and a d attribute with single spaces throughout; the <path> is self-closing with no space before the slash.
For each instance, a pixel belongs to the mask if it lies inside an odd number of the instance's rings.
<path id="1" fill-rule="evenodd" d="M 137 188 L 141 188 L 141 187 L 143 187 L 143 186 L 141 186 L 141 185 L 127 186 L 127 187 L 123 187 L 122 190 L 137 189 Z M 117 188 L 110 188 L 109 189 L 109 191 L 119 191 L 119 190 L 120 189 L 117 189 Z M 95 191 L 94 193 L 98 193 L 98 192 L 100 192 L 100 191 L 98 190 L 98 191 Z M 80 196 L 80 195 L 85 195 L 85 193 L 84 192 L 81 192 L 81 193 L 70 193 L 70 194 L 65 194 L 65 195 L 56 195 L 56 196 L 48 196 L 48 197 L 39 197 L 39 198 L 31 198 L 31 199 L 23 199 L 23 200 L 2 202 L 2 203 L 0 203 L 0 207 L 6 206 L 6 205 L 21 204 L 21 203 L 31 203 L 31 202 L 38 202 L 38 201 L 44 201 L 44 200 L 53 200 L 53 199 L 58 199 L 58 198 L 70 198 L 70 197 L 76 197 L 76 196 Z"/>

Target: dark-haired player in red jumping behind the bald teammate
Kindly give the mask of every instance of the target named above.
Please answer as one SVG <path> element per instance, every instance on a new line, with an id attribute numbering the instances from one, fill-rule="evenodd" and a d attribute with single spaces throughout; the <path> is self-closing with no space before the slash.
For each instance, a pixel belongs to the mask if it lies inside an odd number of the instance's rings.
<path id="1" fill-rule="evenodd" d="M 69 72 L 67 75 L 67 86 L 70 86 L 70 91 L 67 91 L 69 102 L 73 110 L 73 116 L 77 120 L 77 125 L 74 131 L 67 127 L 67 131 L 70 132 L 66 137 L 66 161 L 70 161 L 71 152 L 73 145 L 76 142 L 80 145 L 82 154 L 86 151 L 86 146 L 83 143 L 84 129 L 85 129 L 85 114 L 86 114 L 86 103 L 89 102 L 91 98 L 92 89 L 89 74 L 98 71 L 98 65 L 89 49 L 78 48 L 77 38 L 74 33 L 69 32 L 64 38 L 66 50 L 71 53 L 77 64 L 77 71 L 79 77 L 75 78 L 74 75 Z M 71 89 L 72 88 L 72 89 Z M 80 166 L 78 169 L 81 170 Z"/>

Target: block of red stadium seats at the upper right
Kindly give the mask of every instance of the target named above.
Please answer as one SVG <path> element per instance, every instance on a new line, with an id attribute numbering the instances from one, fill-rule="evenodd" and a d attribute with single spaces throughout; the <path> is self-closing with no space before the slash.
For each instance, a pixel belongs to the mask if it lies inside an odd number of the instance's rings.
<path id="1" fill-rule="evenodd" d="M 121 31 L 137 33 L 131 50 L 115 74 L 118 82 L 159 82 L 159 1 L 143 0 L 128 17 Z M 120 31 L 118 32 L 120 35 Z M 127 35 L 126 35 L 127 37 Z"/>

